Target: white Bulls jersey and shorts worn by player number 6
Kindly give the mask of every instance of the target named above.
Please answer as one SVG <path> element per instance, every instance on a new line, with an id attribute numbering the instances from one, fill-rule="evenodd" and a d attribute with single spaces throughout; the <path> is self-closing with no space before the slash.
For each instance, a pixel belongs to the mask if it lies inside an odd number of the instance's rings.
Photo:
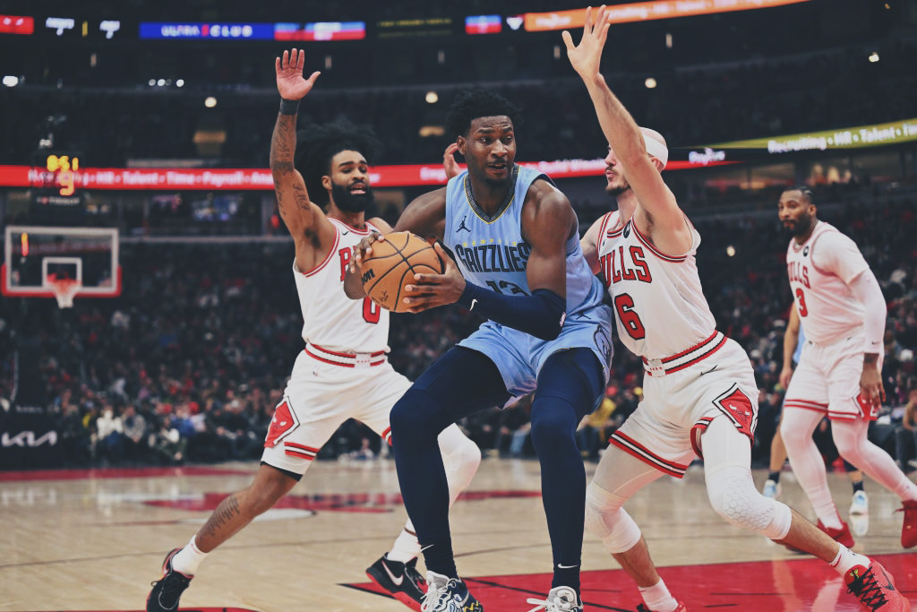
<path id="1" fill-rule="evenodd" d="M 742 347 L 716 330 L 695 260 L 701 236 L 694 228 L 691 236 L 691 250 L 671 255 L 613 212 L 598 244 L 618 337 L 646 370 L 643 401 L 609 442 L 679 478 L 714 417 L 749 440 L 757 427 L 755 373 Z"/>

